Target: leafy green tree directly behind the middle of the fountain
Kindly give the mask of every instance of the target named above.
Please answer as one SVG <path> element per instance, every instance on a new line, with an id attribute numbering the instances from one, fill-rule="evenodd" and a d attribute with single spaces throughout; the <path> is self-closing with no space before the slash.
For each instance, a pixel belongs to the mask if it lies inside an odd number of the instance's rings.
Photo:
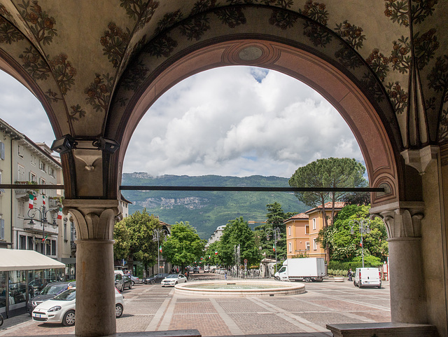
<path id="1" fill-rule="evenodd" d="M 223 231 L 220 239 L 220 248 L 218 254 L 226 266 L 232 266 L 235 263 L 235 247 L 240 245 L 241 260 L 237 261 L 240 265 L 247 259 L 248 265 L 260 263 L 260 251 L 255 245 L 255 235 L 243 217 L 230 220 Z"/>

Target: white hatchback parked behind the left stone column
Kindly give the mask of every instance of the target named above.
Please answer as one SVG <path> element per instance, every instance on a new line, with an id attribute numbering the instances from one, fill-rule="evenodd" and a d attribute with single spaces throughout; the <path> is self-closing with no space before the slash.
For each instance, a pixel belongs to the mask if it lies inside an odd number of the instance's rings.
<path id="1" fill-rule="evenodd" d="M 67 289 L 54 298 L 36 306 L 33 320 L 44 323 L 62 323 L 65 326 L 75 325 L 76 288 Z M 115 315 L 123 315 L 123 296 L 115 289 Z"/>

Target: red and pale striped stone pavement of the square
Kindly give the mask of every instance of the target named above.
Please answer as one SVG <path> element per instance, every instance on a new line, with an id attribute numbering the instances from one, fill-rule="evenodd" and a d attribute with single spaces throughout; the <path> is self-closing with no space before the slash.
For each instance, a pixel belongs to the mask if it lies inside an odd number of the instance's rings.
<path id="1" fill-rule="evenodd" d="M 202 336 L 331 336 L 328 323 L 390 322 L 388 282 L 381 289 L 358 289 L 351 282 L 305 284 L 304 294 L 268 297 L 176 295 L 160 284 L 125 290 L 117 332 L 197 329 Z M 5 320 L 0 336 L 72 335 L 74 327 L 33 322 L 29 315 Z"/>

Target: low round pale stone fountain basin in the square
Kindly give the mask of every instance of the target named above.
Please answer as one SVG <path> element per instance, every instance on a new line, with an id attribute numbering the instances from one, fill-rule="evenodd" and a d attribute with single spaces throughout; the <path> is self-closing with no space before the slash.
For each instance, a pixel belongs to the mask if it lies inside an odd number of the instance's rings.
<path id="1" fill-rule="evenodd" d="M 288 296 L 303 294 L 304 284 L 263 280 L 202 281 L 176 284 L 176 294 L 188 296 Z"/>

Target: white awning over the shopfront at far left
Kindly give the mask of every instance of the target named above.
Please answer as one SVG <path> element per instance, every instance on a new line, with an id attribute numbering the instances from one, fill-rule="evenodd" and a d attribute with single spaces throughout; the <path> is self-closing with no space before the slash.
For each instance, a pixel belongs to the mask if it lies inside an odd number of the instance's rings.
<path id="1" fill-rule="evenodd" d="M 48 268 L 65 268 L 65 265 L 34 250 L 0 248 L 0 271 Z"/>

